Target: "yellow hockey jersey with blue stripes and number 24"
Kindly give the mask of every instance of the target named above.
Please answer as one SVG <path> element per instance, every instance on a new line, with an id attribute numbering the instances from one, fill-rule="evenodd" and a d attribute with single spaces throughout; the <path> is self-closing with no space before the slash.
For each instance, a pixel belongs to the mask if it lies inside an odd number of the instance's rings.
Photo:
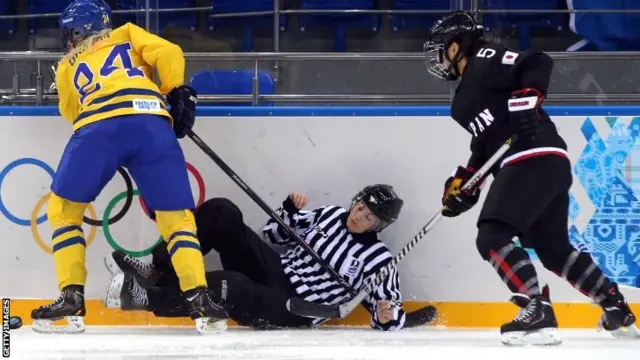
<path id="1" fill-rule="evenodd" d="M 161 86 L 152 80 L 156 68 Z M 171 120 L 162 95 L 184 84 L 179 46 L 127 23 L 90 50 L 68 55 L 56 71 L 60 114 L 73 130 L 129 114 L 157 114 Z"/>

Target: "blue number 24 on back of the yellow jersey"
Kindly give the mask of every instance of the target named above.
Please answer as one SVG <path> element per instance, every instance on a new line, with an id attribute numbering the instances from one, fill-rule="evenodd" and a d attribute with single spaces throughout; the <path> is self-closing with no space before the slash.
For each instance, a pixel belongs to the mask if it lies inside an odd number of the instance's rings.
<path id="1" fill-rule="evenodd" d="M 144 72 L 137 67 L 133 66 L 131 56 L 129 55 L 131 50 L 130 43 L 122 43 L 115 45 L 113 49 L 107 55 L 107 58 L 100 67 L 100 77 L 108 77 L 119 67 L 116 61 L 120 59 L 122 68 L 126 69 L 128 77 L 144 76 Z M 89 65 L 86 62 L 81 62 L 76 68 L 76 72 L 73 75 L 73 84 L 80 94 L 80 102 L 84 103 L 84 99 L 101 89 L 100 82 L 95 78 L 95 74 L 91 71 Z"/>

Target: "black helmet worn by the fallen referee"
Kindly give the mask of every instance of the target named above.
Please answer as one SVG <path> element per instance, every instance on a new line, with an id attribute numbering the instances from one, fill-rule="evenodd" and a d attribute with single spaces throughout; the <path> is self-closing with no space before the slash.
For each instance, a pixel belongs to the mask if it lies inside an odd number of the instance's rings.
<path id="1" fill-rule="evenodd" d="M 398 197 L 391 185 L 376 184 L 362 189 L 351 201 L 351 208 L 358 202 L 364 203 L 380 220 L 372 231 L 380 232 L 398 219 L 404 201 Z"/>

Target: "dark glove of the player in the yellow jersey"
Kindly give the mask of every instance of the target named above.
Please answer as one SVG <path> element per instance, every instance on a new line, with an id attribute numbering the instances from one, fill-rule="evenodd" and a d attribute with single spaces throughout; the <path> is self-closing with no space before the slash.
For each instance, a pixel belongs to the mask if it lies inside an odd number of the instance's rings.
<path id="1" fill-rule="evenodd" d="M 173 118 L 173 131 L 178 139 L 182 139 L 196 121 L 196 91 L 188 85 L 178 86 L 169 92 L 167 102 L 171 106 L 169 114 Z"/>

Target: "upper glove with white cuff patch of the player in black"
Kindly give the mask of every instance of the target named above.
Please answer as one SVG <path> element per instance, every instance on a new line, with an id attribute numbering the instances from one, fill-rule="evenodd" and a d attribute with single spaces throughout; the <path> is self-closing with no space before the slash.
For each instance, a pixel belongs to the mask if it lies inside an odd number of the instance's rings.
<path id="1" fill-rule="evenodd" d="M 533 138 L 538 131 L 540 118 L 538 109 L 544 96 L 533 88 L 524 88 L 511 93 L 509 120 L 511 130 L 521 138 Z"/>

